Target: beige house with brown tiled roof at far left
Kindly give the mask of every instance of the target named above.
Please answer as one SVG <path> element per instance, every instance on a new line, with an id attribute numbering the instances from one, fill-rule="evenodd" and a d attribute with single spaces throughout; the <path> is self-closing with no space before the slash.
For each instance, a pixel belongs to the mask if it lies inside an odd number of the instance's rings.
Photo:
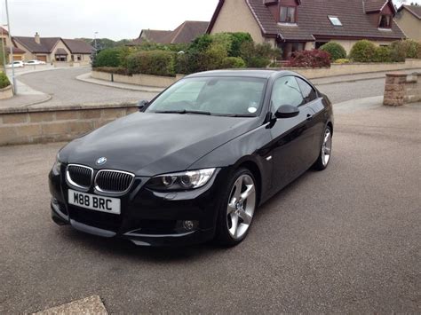
<path id="1" fill-rule="evenodd" d="M 92 47 L 82 40 L 61 37 L 13 36 L 13 43 L 25 51 L 23 59 L 38 59 L 47 63 L 74 62 L 87 65 L 91 62 Z"/>

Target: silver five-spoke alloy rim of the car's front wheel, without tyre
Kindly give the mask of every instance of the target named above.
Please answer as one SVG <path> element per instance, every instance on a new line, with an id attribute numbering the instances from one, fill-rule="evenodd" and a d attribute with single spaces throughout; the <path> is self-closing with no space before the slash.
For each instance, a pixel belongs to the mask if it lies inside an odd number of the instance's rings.
<path id="1" fill-rule="evenodd" d="M 256 208 L 256 187 L 253 178 L 244 174 L 237 178 L 226 207 L 226 225 L 234 240 L 240 240 L 249 230 Z"/>

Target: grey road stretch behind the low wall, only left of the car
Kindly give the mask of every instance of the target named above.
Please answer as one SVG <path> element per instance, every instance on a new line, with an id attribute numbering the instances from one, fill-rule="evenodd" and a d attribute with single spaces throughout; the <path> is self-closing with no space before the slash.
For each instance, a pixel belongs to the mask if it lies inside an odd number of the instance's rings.
<path id="1" fill-rule="evenodd" d="M 28 73 L 20 75 L 18 79 L 32 89 L 52 96 L 52 100 L 44 103 L 43 106 L 137 102 L 139 99 L 150 99 L 155 96 L 155 93 L 109 88 L 75 79 L 76 76 L 90 71 L 90 67 L 63 68 Z"/>

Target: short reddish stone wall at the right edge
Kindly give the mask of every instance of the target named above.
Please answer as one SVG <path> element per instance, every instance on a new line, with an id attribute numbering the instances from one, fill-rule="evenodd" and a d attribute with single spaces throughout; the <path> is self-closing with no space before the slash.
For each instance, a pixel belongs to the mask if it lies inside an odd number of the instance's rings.
<path id="1" fill-rule="evenodd" d="M 402 106 L 419 101 L 421 101 L 421 73 L 386 75 L 383 100 L 385 106 Z"/>

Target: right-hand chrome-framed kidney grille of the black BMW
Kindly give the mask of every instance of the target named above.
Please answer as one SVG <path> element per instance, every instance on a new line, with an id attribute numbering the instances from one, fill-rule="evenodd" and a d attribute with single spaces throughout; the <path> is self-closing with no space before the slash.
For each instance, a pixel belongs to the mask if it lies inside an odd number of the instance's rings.
<path id="1" fill-rule="evenodd" d="M 126 193 L 134 181 L 134 174 L 122 170 L 102 169 L 95 177 L 95 189 L 101 193 Z"/>

